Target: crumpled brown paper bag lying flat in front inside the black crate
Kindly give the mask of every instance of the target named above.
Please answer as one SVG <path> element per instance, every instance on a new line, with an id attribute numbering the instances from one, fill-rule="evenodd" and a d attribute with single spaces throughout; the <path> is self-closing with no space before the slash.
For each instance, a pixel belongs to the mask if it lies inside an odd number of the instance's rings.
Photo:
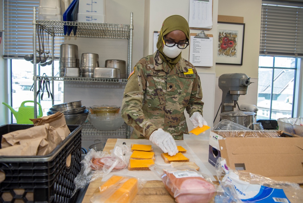
<path id="1" fill-rule="evenodd" d="M 17 130 L 2 135 L 1 156 L 43 156 L 62 142 L 56 129 L 49 124 Z"/>

